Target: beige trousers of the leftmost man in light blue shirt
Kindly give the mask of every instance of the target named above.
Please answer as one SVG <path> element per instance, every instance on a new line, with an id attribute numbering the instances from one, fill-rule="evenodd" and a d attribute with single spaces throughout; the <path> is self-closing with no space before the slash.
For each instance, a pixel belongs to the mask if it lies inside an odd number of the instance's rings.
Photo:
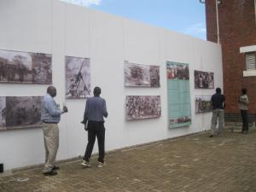
<path id="1" fill-rule="evenodd" d="M 55 165 L 56 154 L 59 148 L 59 127 L 57 124 L 43 123 L 45 164 L 44 173 L 51 172 Z"/>

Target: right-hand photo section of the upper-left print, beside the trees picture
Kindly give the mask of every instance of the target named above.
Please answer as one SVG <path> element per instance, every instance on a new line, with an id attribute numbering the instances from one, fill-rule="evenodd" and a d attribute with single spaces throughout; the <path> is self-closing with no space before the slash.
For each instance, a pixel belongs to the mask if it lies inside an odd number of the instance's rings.
<path id="1" fill-rule="evenodd" d="M 32 83 L 52 83 L 51 55 L 32 53 Z"/>

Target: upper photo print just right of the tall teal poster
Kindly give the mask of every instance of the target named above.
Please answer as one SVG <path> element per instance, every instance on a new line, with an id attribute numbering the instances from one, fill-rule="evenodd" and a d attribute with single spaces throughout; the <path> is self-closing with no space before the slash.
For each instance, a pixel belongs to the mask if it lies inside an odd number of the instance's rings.
<path id="1" fill-rule="evenodd" d="M 211 72 L 194 72 L 195 89 L 214 89 L 214 75 Z"/>

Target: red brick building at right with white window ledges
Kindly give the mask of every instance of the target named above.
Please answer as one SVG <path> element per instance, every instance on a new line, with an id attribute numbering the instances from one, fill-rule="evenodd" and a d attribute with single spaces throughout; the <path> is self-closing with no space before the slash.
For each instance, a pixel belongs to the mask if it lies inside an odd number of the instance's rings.
<path id="1" fill-rule="evenodd" d="M 226 120 L 240 119 L 238 96 L 247 88 L 256 120 L 256 0 L 205 0 L 207 40 L 222 46 Z"/>

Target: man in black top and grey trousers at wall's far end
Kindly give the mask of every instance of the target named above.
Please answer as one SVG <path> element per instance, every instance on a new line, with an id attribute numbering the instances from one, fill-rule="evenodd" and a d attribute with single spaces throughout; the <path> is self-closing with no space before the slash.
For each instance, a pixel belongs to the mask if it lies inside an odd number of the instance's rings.
<path id="1" fill-rule="evenodd" d="M 224 107 L 225 107 L 225 97 L 221 94 L 221 89 L 216 88 L 216 93 L 212 95 L 212 125 L 211 125 L 211 135 L 215 136 L 215 128 L 218 119 L 218 136 L 223 135 L 223 125 L 224 125 Z"/>

